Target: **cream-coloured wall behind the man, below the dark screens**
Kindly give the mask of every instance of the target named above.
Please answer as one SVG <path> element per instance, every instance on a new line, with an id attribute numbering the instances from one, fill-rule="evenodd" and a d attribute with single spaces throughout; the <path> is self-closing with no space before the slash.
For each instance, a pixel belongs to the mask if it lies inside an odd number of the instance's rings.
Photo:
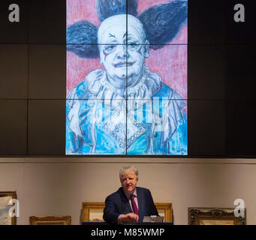
<path id="1" fill-rule="evenodd" d="M 188 223 L 188 207 L 234 208 L 244 199 L 247 224 L 256 224 L 256 160 L 185 158 L 0 158 L 0 191 L 17 190 L 18 224 L 30 215 L 72 216 L 82 202 L 103 202 L 119 183 L 121 166 L 139 169 L 138 186 L 155 202 L 172 202 L 175 224 Z"/>

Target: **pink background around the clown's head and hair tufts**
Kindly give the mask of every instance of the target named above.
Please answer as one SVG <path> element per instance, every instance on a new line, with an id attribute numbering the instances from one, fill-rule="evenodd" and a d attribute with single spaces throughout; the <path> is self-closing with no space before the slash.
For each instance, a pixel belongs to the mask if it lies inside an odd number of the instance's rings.
<path id="1" fill-rule="evenodd" d="M 173 0 L 138 0 L 138 15 L 149 7 L 170 1 Z M 67 0 L 67 26 L 81 20 L 100 26 L 96 0 Z M 159 74 L 163 82 L 179 92 L 184 99 L 187 99 L 187 30 L 187 26 L 184 26 L 169 43 L 175 45 L 167 45 L 156 51 L 151 49 L 146 59 L 149 70 Z M 98 59 L 79 58 L 73 52 L 67 52 L 67 96 L 71 89 L 96 68 L 104 69 Z"/>

